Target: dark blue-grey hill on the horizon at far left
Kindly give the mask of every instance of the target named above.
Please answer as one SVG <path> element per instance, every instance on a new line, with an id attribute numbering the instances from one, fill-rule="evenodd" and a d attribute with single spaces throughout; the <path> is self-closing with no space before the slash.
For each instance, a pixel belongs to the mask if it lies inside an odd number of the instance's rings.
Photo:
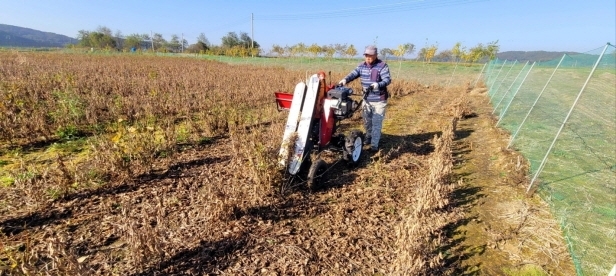
<path id="1" fill-rule="evenodd" d="M 0 47 L 64 47 L 77 42 L 65 35 L 0 24 Z"/>

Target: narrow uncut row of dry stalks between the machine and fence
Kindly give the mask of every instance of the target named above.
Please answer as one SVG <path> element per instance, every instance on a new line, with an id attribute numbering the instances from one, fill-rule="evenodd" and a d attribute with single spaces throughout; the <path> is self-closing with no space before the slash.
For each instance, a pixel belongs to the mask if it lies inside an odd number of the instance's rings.
<path id="1" fill-rule="evenodd" d="M 439 248 L 444 245 L 443 227 L 454 218 L 447 210 L 453 191 L 450 175 L 453 167 L 451 144 L 456 119 L 440 138 L 435 137 L 435 150 L 429 159 L 429 171 L 424 172 L 410 195 L 409 209 L 396 228 L 396 259 L 390 267 L 392 275 L 436 275 L 446 272 Z"/>

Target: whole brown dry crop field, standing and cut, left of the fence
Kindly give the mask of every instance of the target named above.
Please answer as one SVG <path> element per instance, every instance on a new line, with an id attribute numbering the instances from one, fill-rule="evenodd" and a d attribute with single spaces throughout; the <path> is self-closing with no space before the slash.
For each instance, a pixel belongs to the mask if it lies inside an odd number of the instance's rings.
<path id="1" fill-rule="evenodd" d="M 273 98 L 306 72 L 60 53 L 0 64 L 0 275 L 574 273 L 546 205 L 521 192 L 526 164 L 503 149 L 485 88 L 394 80 L 380 152 L 332 161 L 309 191 L 277 167 Z"/>

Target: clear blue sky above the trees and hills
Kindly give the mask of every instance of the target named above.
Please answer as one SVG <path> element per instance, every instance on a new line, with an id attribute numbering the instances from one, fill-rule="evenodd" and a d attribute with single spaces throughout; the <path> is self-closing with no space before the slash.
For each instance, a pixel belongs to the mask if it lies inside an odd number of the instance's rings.
<path id="1" fill-rule="evenodd" d="M 263 49 L 299 42 L 416 49 L 497 41 L 500 51 L 586 52 L 616 43 L 616 1 L 565 0 L 0 0 L 0 23 L 76 37 L 99 26 L 123 35 L 252 34 Z M 254 20 L 251 20 L 251 14 Z"/>

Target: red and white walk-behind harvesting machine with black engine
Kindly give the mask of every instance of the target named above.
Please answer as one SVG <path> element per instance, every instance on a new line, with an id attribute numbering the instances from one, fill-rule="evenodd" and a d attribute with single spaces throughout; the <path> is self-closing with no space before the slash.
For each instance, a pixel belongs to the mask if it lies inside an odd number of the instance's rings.
<path id="1" fill-rule="evenodd" d="M 340 121 L 351 117 L 363 101 L 351 98 L 351 88 L 327 85 L 325 73 L 319 72 L 298 83 L 293 94 L 275 95 L 278 110 L 289 111 L 279 163 L 291 175 L 291 181 L 305 181 L 311 189 L 319 187 L 328 170 L 321 158 L 324 151 L 342 153 L 347 164 L 357 164 L 364 134 L 359 130 L 352 130 L 349 135 L 336 132 Z"/>

